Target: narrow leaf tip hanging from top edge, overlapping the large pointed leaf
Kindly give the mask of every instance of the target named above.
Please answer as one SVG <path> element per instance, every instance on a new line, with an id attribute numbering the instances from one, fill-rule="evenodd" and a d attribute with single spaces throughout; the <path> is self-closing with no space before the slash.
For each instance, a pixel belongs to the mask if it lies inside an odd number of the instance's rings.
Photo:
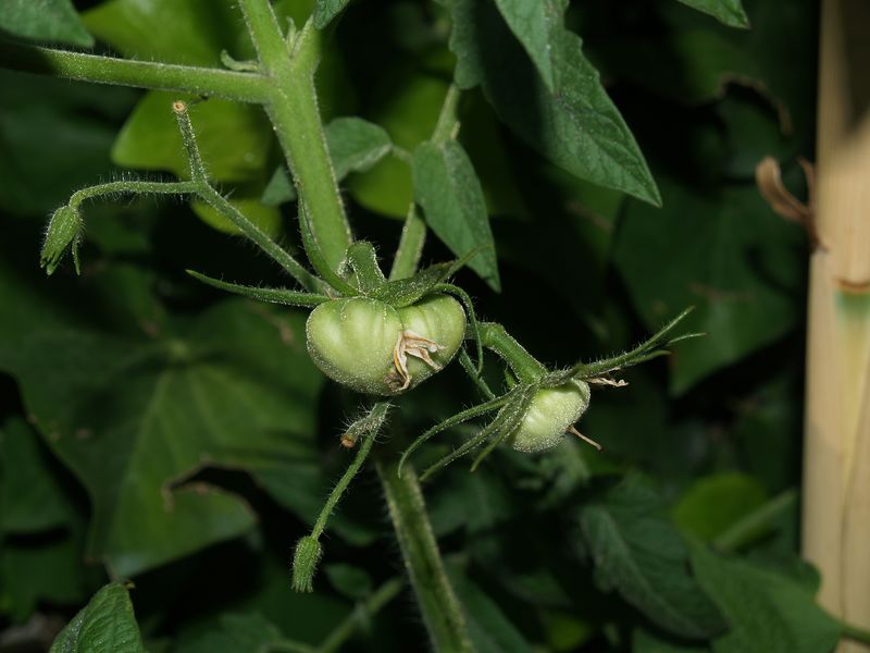
<path id="1" fill-rule="evenodd" d="M 567 0 L 496 0 L 501 17 L 513 35 L 520 39 L 537 67 L 547 88 L 556 88 L 556 65 L 552 61 L 551 40 L 561 30 Z"/>

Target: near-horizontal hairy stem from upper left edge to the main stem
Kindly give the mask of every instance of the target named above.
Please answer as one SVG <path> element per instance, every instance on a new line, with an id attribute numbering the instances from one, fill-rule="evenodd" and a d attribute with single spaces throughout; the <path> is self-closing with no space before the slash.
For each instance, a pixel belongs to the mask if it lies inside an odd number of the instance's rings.
<path id="1" fill-rule="evenodd" d="M 269 83 L 261 75 L 221 69 L 130 61 L 40 48 L 0 39 L 0 67 L 65 79 L 178 90 L 238 102 L 263 102 Z"/>

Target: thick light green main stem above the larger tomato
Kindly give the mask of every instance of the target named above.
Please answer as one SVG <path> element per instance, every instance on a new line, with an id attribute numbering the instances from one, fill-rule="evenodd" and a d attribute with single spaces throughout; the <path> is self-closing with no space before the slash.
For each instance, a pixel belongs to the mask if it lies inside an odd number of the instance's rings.
<path id="1" fill-rule="evenodd" d="M 352 242 L 318 108 L 320 33 L 309 21 L 288 42 L 269 0 L 240 0 L 260 67 L 272 87 L 264 107 L 284 149 L 323 257 L 337 271 Z"/>

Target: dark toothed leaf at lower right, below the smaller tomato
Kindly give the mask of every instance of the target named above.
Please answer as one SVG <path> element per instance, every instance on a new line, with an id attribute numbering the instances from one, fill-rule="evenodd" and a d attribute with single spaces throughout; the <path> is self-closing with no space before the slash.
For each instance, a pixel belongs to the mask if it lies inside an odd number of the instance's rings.
<path id="1" fill-rule="evenodd" d="M 656 494 L 633 478 L 583 507 L 596 579 L 669 632 L 710 637 L 724 627 L 722 617 L 688 574 L 688 550 L 659 509 Z"/>

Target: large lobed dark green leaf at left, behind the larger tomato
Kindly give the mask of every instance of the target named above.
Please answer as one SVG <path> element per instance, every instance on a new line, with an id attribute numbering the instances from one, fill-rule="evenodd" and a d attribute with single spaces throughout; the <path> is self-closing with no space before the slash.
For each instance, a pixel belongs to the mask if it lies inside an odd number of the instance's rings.
<path id="1" fill-rule="evenodd" d="M 120 297 L 138 293 L 129 281 L 102 283 Z M 304 352 L 301 316 L 226 301 L 195 319 L 110 335 L 8 271 L 0 288 L 17 307 L 0 326 L 0 369 L 17 380 L 35 423 L 87 488 L 90 555 L 116 574 L 250 528 L 238 497 L 187 481 L 203 467 L 256 470 L 313 456 L 321 377 Z M 62 306 L 94 299 L 73 295 Z"/>

